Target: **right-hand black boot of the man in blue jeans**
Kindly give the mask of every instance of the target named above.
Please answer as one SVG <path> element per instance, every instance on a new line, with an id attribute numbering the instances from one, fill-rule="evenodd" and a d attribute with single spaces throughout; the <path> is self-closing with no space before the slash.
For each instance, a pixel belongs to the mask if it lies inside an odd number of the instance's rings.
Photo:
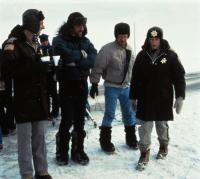
<path id="1" fill-rule="evenodd" d="M 135 125 L 134 126 L 125 126 L 126 132 L 126 144 L 132 148 L 137 150 L 138 149 L 138 141 L 135 135 Z"/>

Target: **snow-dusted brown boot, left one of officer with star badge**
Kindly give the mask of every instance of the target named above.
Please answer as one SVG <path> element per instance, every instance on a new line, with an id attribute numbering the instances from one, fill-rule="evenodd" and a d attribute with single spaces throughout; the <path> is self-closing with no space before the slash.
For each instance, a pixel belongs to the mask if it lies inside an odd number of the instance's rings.
<path id="1" fill-rule="evenodd" d="M 149 162 L 149 155 L 150 155 L 150 149 L 146 151 L 140 151 L 141 155 L 138 161 L 138 164 L 136 166 L 136 170 L 142 171 L 145 169 L 146 165 Z"/>

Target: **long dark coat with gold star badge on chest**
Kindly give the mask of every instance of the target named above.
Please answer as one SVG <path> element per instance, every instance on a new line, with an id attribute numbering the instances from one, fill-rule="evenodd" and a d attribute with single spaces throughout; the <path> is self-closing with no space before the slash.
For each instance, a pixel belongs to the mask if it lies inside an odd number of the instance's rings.
<path id="1" fill-rule="evenodd" d="M 185 98 L 185 70 L 177 54 L 163 40 L 153 62 L 146 46 L 136 57 L 130 99 L 137 99 L 136 117 L 144 121 L 173 120 L 173 96 Z M 173 90 L 174 88 L 174 90 Z"/>

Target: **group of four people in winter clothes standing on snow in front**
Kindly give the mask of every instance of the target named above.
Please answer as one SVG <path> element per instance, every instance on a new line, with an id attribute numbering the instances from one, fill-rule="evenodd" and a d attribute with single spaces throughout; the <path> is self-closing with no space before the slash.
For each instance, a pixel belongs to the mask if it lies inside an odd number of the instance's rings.
<path id="1" fill-rule="evenodd" d="M 157 158 L 168 151 L 168 124 L 173 119 L 173 87 L 175 107 L 179 113 L 185 98 L 185 71 L 177 54 L 163 39 L 159 27 L 149 29 L 145 44 L 134 59 L 128 44 L 130 27 L 118 23 L 114 27 L 115 40 L 104 45 L 99 53 L 87 35 L 87 18 L 73 12 L 48 47 L 48 36 L 37 37 L 44 29 L 44 14 L 36 9 L 23 13 L 22 25 L 15 26 L 3 43 L 1 80 L 13 80 L 14 115 L 17 123 L 18 162 L 22 179 L 51 179 L 48 174 L 45 144 L 45 120 L 57 116 L 61 106 L 61 122 L 56 134 L 56 161 L 58 165 L 71 159 L 81 165 L 89 163 L 84 150 L 84 117 L 88 93 L 98 95 L 98 83 L 104 79 L 105 113 L 100 126 L 100 146 L 105 152 L 114 152 L 111 142 L 112 121 L 117 100 L 120 102 L 126 144 L 141 151 L 137 169 L 149 161 L 153 121 L 160 149 Z M 41 59 L 60 56 L 56 70 Z M 51 68 L 52 67 L 52 68 Z M 56 72 L 56 73 L 55 73 Z M 56 77 L 55 77 L 56 74 Z M 92 84 L 90 92 L 87 79 Z M 59 97 L 57 83 L 59 82 Z M 131 86 L 130 86 L 131 84 Z M 53 91 L 49 90 L 53 89 Z M 55 104 L 49 113 L 48 96 Z M 139 122 L 138 122 L 139 121 Z M 139 142 L 136 137 L 139 124 Z"/>

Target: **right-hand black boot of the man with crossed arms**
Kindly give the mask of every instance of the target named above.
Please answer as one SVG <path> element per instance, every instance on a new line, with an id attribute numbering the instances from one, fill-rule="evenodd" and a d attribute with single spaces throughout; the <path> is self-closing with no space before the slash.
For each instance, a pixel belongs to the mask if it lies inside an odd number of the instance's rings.
<path id="1" fill-rule="evenodd" d="M 72 133 L 72 149 L 71 149 L 71 158 L 74 162 L 81 165 L 86 165 L 89 163 L 89 157 L 84 152 L 84 138 L 86 137 L 86 132 L 82 131 L 73 131 Z"/>

